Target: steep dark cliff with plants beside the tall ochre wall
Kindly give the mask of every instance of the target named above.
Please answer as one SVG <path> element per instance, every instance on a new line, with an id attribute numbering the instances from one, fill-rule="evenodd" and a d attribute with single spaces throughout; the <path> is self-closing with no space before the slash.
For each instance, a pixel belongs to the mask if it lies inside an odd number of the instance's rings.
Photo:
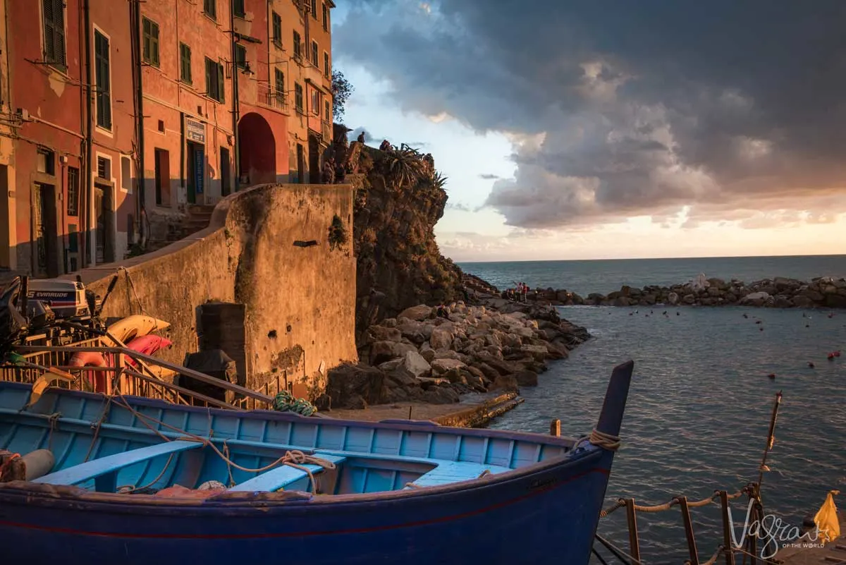
<path id="1" fill-rule="evenodd" d="M 448 196 L 431 156 L 407 149 L 350 150 L 358 173 L 353 226 L 360 341 L 376 321 L 417 304 L 463 299 L 464 293 L 461 270 L 435 242 Z"/>

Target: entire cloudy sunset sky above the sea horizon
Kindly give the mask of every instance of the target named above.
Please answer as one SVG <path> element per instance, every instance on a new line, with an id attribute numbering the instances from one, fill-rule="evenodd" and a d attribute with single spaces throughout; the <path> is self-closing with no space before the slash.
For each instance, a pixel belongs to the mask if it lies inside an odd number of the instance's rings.
<path id="1" fill-rule="evenodd" d="M 843 0 L 338 0 L 343 122 L 454 261 L 846 254 Z"/>

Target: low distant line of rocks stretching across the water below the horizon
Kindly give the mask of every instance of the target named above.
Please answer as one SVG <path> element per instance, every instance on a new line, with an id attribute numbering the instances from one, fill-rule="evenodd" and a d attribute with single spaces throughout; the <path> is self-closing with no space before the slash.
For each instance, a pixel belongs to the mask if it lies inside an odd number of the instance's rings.
<path id="1" fill-rule="evenodd" d="M 732 279 L 700 277 L 699 280 L 671 287 L 624 286 L 607 295 L 588 294 L 586 298 L 566 290 L 541 290 L 530 300 L 550 304 L 592 304 L 597 306 L 651 306 L 656 304 L 689 306 L 742 305 L 770 308 L 846 308 L 846 279 L 817 277 L 810 282 L 775 277 L 746 284 Z"/>

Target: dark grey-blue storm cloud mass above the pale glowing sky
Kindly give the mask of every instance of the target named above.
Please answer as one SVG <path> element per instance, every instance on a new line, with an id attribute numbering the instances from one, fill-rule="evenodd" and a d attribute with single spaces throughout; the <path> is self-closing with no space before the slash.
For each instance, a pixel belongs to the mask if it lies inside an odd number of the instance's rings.
<path id="1" fill-rule="evenodd" d="M 404 110 L 514 135 L 487 200 L 511 225 L 846 210 L 843 0 L 350 5 L 339 60 Z"/>

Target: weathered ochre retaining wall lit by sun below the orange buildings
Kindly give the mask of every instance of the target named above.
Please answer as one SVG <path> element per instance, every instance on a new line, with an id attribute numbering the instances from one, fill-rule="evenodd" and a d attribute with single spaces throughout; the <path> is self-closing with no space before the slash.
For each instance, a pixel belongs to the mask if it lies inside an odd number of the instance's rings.
<path id="1" fill-rule="evenodd" d="M 146 313 L 171 323 L 163 359 L 198 350 L 198 310 L 245 306 L 247 386 L 273 392 L 288 380 L 314 398 L 327 370 L 357 360 L 352 189 L 266 184 L 222 200 L 209 228 L 122 264 L 103 314 Z M 344 241 L 346 238 L 346 241 Z M 105 295 L 117 265 L 85 272 Z"/>

